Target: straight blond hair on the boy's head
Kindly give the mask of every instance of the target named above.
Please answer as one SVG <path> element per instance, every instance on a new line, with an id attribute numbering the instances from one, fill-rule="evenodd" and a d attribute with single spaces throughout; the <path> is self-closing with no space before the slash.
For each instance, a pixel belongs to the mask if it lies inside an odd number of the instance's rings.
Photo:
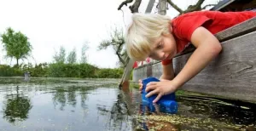
<path id="1" fill-rule="evenodd" d="M 163 34 L 170 33 L 170 18 L 160 14 L 133 14 L 125 44 L 132 60 L 142 61 L 150 54 L 153 43 Z"/>

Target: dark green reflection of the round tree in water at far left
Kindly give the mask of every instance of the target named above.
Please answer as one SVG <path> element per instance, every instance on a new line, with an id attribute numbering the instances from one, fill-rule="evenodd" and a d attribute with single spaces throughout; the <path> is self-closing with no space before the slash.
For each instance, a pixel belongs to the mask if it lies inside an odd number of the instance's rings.
<path id="1" fill-rule="evenodd" d="M 32 108 L 31 101 L 24 94 L 19 93 L 19 86 L 16 87 L 16 94 L 7 94 L 3 101 L 3 118 L 8 122 L 25 121 Z"/>

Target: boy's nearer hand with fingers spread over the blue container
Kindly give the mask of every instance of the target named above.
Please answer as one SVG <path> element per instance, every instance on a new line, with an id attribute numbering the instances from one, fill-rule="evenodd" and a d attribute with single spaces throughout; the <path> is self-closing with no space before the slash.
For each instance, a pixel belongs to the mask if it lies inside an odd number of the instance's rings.
<path id="1" fill-rule="evenodd" d="M 178 87 L 172 81 L 150 82 L 147 84 L 146 92 L 150 91 L 146 97 L 158 94 L 154 103 L 160 100 L 163 95 L 172 94 Z"/>

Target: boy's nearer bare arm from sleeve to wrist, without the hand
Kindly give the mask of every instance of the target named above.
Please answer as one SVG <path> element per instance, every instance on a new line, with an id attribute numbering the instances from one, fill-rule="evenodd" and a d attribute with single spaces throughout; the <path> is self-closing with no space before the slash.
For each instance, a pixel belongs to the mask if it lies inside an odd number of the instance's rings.
<path id="1" fill-rule="evenodd" d="M 193 43 L 196 49 L 186 65 L 184 65 L 183 70 L 173 79 L 173 83 L 176 83 L 177 87 L 182 86 L 183 83 L 195 77 L 222 49 L 218 39 L 204 27 L 199 27 L 193 32 L 191 43 Z"/>

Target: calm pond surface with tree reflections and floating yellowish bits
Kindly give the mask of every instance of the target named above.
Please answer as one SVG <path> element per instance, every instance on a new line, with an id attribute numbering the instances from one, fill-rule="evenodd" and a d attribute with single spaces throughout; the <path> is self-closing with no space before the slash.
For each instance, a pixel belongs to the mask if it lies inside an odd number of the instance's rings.
<path id="1" fill-rule="evenodd" d="M 255 130 L 256 105 L 177 93 L 177 114 L 143 112 L 119 79 L 0 77 L 0 130 Z"/>

